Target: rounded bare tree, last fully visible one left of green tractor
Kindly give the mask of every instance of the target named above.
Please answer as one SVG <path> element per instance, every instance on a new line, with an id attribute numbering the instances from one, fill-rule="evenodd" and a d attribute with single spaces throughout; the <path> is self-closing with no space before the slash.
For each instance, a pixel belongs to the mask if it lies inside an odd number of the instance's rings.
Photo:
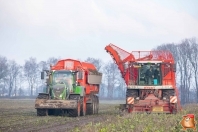
<path id="1" fill-rule="evenodd" d="M 25 62 L 24 76 L 27 78 L 30 87 L 30 95 L 32 96 L 33 89 L 38 78 L 38 64 L 36 62 L 36 58 L 30 57 L 29 60 Z"/>

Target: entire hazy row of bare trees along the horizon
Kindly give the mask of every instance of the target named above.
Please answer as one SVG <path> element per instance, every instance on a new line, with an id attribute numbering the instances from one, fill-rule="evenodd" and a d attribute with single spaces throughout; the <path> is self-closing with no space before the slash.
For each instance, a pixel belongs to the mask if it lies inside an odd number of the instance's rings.
<path id="1" fill-rule="evenodd" d="M 198 102 L 198 43 L 195 38 L 184 39 L 180 43 L 161 44 L 152 50 L 168 50 L 173 54 L 177 64 L 176 80 L 181 103 Z M 50 57 L 37 62 L 30 57 L 24 65 L 15 60 L 0 56 L 0 96 L 37 96 L 44 91 L 45 82 L 40 73 L 49 69 L 60 58 Z M 88 57 L 85 62 L 93 63 L 103 73 L 100 85 L 100 98 L 125 99 L 126 85 L 117 65 L 110 60 L 104 63 L 101 59 Z"/>

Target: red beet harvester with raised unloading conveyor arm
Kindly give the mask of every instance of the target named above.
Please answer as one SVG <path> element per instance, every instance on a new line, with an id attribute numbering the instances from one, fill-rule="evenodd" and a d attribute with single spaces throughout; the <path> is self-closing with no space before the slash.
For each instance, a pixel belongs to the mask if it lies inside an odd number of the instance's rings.
<path id="1" fill-rule="evenodd" d="M 176 87 L 176 64 L 169 51 L 132 51 L 109 44 L 112 56 L 127 85 L 126 104 L 131 112 L 177 113 L 181 109 Z"/>

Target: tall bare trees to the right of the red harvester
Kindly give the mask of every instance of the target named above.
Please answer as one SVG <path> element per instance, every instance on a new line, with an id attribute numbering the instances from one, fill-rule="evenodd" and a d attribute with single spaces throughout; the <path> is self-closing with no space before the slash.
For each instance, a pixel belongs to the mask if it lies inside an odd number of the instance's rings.
<path id="1" fill-rule="evenodd" d="M 198 43 L 196 38 L 184 39 L 180 43 L 167 43 L 154 50 L 168 50 L 177 65 L 176 80 L 181 103 L 198 103 Z"/>

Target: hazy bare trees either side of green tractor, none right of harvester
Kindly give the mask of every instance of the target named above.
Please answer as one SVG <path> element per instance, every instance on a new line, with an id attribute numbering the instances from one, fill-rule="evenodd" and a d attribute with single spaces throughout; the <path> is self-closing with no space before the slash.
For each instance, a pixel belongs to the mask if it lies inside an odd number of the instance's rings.
<path id="1" fill-rule="evenodd" d="M 19 65 L 15 60 L 8 60 L 0 56 L 0 96 L 37 96 L 45 91 L 45 81 L 41 80 L 40 73 L 49 70 L 61 58 L 50 57 L 46 61 L 37 62 L 30 57 L 24 65 Z M 82 61 L 82 60 L 81 60 Z M 85 62 L 93 63 L 97 70 L 104 74 L 100 86 L 100 98 L 124 98 L 124 81 L 112 61 L 105 64 L 101 59 L 88 57 Z"/>

